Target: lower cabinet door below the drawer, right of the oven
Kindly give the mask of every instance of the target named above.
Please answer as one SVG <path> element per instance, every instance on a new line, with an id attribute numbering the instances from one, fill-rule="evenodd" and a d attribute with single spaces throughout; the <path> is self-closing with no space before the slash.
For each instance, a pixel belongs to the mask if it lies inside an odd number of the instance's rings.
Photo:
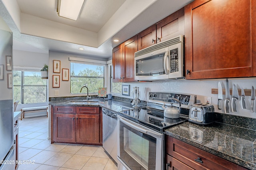
<path id="1" fill-rule="evenodd" d="M 165 154 L 165 165 L 165 170 L 194 170 L 168 154 Z"/>

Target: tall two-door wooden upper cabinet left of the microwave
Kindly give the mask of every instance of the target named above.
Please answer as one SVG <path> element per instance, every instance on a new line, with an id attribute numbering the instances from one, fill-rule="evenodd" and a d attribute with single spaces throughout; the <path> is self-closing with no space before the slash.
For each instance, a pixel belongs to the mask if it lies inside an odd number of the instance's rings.
<path id="1" fill-rule="evenodd" d="M 134 53 L 136 51 L 138 51 L 137 35 L 113 49 L 113 82 L 134 81 Z"/>

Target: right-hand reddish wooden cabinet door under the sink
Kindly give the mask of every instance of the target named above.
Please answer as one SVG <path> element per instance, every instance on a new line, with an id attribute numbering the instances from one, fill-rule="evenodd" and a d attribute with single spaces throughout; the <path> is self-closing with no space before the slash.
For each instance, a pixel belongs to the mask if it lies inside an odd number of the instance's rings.
<path id="1" fill-rule="evenodd" d="M 99 144 L 99 115 L 76 115 L 76 142 Z"/>

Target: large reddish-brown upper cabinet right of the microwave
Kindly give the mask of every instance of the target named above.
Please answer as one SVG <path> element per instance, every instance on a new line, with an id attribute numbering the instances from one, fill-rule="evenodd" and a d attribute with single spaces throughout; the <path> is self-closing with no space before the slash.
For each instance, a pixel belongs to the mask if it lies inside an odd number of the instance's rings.
<path id="1" fill-rule="evenodd" d="M 255 4 L 195 0 L 185 6 L 186 79 L 256 76 Z"/>

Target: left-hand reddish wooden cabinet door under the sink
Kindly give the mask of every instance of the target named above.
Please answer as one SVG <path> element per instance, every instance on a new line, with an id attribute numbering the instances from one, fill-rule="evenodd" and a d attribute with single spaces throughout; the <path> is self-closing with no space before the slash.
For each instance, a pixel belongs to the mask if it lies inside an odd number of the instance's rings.
<path id="1" fill-rule="evenodd" d="M 76 142 L 76 115 L 53 114 L 54 142 Z"/>

